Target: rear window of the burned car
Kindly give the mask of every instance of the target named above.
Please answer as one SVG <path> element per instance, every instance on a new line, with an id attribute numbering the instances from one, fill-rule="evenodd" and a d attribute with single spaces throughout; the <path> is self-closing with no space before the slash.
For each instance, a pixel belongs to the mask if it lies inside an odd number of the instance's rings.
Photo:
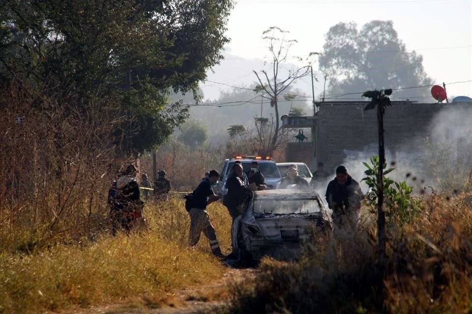
<path id="1" fill-rule="evenodd" d="M 264 203 L 266 204 L 263 206 Z M 286 205 L 290 203 L 292 203 L 292 206 L 287 207 Z M 288 210 L 289 208 L 294 210 Z M 316 197 L 303 199 L 256 198 L 252 202 L 252 212 L 256 214 L 317 214 L 321 213 L 322 210 L 320 200 Z"/>

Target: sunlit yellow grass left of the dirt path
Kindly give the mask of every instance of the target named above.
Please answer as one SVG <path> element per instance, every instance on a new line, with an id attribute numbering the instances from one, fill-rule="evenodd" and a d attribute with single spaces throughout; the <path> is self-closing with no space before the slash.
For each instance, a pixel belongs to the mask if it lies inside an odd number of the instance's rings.
<path id="1" fill-rule="evenodd" d="M 229 249 L 231 218 L 221 204 L 209 213 Z M 57 245 L 33 254 L 0 254 L 0 312 L 59 311 L 72 305 L 142 299 L 159 306 L 166 292 L 208 283 L 224 266 L 209 253 L 202 236 L 196 248 L 187 243 L 189 218 L 182 200 L 147 206 L 149 231 L 99 235 L 94 241 Z"/>

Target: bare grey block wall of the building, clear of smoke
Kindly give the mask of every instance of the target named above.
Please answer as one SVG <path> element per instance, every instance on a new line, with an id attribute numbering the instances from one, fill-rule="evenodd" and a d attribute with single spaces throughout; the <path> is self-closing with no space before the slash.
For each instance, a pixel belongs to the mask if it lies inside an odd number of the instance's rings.
<path id="1" fill-rule="evenodd" d="M 323 161 L 327 171 L 331 171 L 345 160 L 346 151 L 372 150 L 372 153 L 376 154 L 378 149 L 376 109 L 364 111 L 365 102 L 333 102 L 319 105 L 316 153 L 317 161 Z M 400 149 L 420 153 L 421 141 L 418 139 L 429 136 L 433 117 L 442 110 L 454 107 L 471 108 L 472 104 L 394 102 L 392 106 L 386 108 L 384 115 L 386 149 L 392 153 Z M 472 117 L 470 121 L 472 124 Z M 306 152 L 310 150 L 307 149 Z M 290 159 L 294 158 L 291 156 Z"/>

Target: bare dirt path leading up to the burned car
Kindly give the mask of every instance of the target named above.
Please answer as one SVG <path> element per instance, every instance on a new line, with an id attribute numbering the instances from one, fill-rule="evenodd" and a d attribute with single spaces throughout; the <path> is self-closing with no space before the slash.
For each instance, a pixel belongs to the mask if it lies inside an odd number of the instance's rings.
<path id="1" fill-rule="evenodd" d="M 169 293 L 160 304 L 141 300 L 135 303 L 114 304 L 70 311 L 71 314 L 195 314 L 208 313 L 223 307 L 229 300 L 229 288 L 244 278 L 256 274 L 255 268 L 228 268 L 217 281 L 199 287 Z"/>

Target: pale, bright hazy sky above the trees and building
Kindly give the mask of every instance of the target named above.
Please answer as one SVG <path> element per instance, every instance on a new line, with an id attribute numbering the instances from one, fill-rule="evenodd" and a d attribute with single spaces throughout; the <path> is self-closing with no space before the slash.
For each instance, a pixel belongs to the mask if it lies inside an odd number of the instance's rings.
<path id="1" fill-rule="evenodd" d="M 237 0 L 228 23 L 229 49 L 240 57 L 262 59 L 268 55 L 262 32 L 279 26 L 298 40 L 291 54 L 306 56 L 323 51 L 330 26 L 355 22 L 361 27 L 371 20 L 392 20 L 407 50 L 423 56 L 435 83 L 472 80 L 472 0 Z M 237 66 L 238 60 L 225 62 Z M 447 92 L 472 97 L 472 82 L 448 85 Z"/>

